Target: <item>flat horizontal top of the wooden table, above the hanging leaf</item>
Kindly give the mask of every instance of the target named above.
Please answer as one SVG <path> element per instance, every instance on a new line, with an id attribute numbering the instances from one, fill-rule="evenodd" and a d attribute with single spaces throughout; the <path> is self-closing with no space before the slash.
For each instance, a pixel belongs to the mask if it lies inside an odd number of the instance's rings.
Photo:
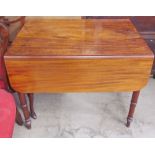
<path id="1" fill-rule="evenodd" d="M 152 52 L 128 19 L 31 19 L 6 56 L 152 56 Z"/>

